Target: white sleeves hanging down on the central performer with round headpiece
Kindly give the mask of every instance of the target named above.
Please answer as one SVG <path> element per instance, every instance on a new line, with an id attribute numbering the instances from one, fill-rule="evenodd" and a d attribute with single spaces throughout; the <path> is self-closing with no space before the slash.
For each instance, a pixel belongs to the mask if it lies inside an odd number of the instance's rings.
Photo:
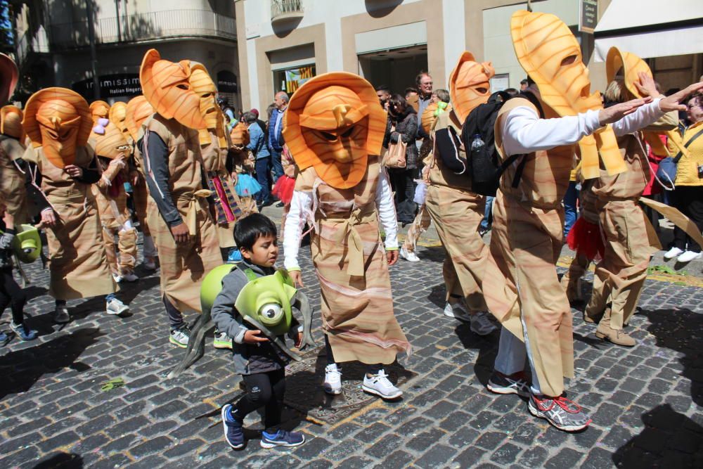
<path id="1" fill-rule="evenodd" d="M 378 218 L 383 226 L 383 231 L 386 233 L 385 248 L 386 250 L 396 250 L 398 249 L 398 220 L 393 204 L 391 186 L 383 169 L 380 170 L 378 175 L 375 201 Z M 300 270 L 298 252 L 300 250 L 302 229 L 306 221 L 304 213 L 312 210 L 312 203 L 312 192 L 293 191 L 290 210 L 285 217 L 283 233 L 283 266 L 288 270 Z"/>

